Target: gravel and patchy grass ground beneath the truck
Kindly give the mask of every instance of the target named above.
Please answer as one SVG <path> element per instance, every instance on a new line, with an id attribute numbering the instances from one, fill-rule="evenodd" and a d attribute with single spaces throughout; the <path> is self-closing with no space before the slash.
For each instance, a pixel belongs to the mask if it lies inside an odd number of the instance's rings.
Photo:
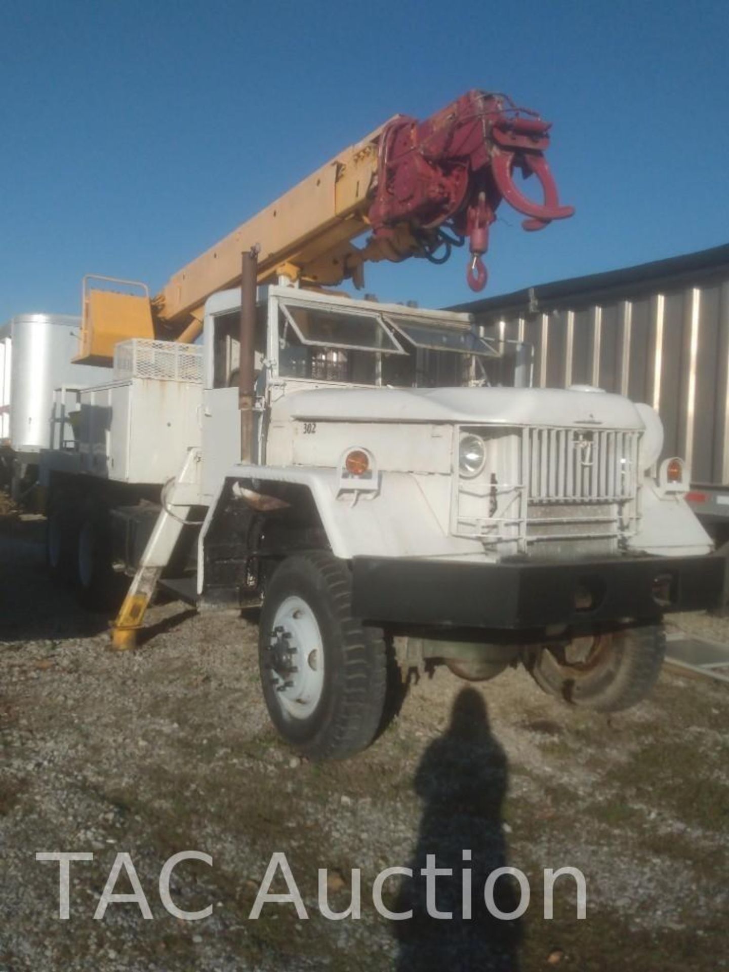
<path id="1" fill-rule="evenodd" d="M 114 653 L 107 619 L 49 586 L 39 529 L 0 531 L 2 972 L 729 967 L 725 685 L 666 670 L 650 700 L 608 718 L 563 707 L 523 672 L 470 690 L 437 670 L 362 756 L 310 764 L 269 725 L 254 618 L 160 605 L 145 642 Z M 729 640 L 729 622 L 708 623 Z M 479 893 L 495 867 L 524 872 L 523 918 L 474 905 L 470 922 L 424 920 L 422 886 L 407 879 L 384 899 L 413 920 L 378 915 L 379 871 L 434 853 L 455 865 L 460 895 L 465 849 Z M 171 895 L 188 911 L 212 905 L 204 920 L 168 914 L 157 891 L 164 861 L 187 850 L 213 864 L 181 864 Z M 58 865 L 38 851 L 93 853 L 71 865 L 69 920 L 58 919 Z M 152 917 L 112 902 L 94 920 L 121 851 Z M 250 918 L 275 851 L 306 919 L 291 904 Z M 585 875 L 585 920 L 564 878 L 543 917 L 543 869 L 564 866 Z M 320 914 L 318 868 L 336 911 L 361 869 L 360 920 Z M 439 886 L 445 909 L 457 895 Z M 499 887 L 505 911 L 512 889 Z M 129 890 L 122 874 L 116 891 Z"/>

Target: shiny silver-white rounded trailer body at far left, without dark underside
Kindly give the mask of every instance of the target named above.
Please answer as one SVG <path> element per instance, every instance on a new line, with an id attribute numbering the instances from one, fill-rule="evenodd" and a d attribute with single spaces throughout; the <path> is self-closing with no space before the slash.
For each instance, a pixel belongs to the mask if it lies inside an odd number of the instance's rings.
<path id="1" fill-rule="evenodd" d="M 107 380 L 110 369 L 72 364 L 81 319 L 18 314 L 0 327 L 0 438 L 18 453 L 51 443 L 53 389 Z"/>

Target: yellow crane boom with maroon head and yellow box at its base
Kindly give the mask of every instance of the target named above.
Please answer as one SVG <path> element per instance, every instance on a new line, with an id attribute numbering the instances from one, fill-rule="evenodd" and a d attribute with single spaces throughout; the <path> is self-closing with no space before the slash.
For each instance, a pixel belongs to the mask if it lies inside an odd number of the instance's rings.
<path id="1" fill-rule="evenodd" d="M 188 263 L 155 297 L 85 286 L 76 360 L 108 364 L 114 345 L 129 337 L 193 340 L 205 300 L 240 282 L 241 254 L 252 247 L 260 283 L 284 275 L 302 286 L 347 278 L 362 286 L 366 261 L 442 262 L 468 236 L 469 283 L 480 289 L 480 257 L 502 198 L 530 217 L 529 229 L 573 212 L 559 206 L 543 157 L 548 127 L 505 96 L 481 91 L 426 121 L 395 116 Z M 537 175 L 542 202 L 516 189 L 515 167 Z M 355 246 L 367 230 L 364 246 Z"/>

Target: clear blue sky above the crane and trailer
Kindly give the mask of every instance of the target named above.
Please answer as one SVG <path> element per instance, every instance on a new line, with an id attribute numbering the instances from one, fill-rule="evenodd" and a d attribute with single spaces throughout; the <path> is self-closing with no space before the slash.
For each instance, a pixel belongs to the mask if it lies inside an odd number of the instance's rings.
<path id="1" fill-rule="evenodd" d="M 78 312 L 87 272 L 180 266 L 391 115 L 469 87 L 553 122 L 572 220 L 504 206 L 495 295 L 729 242 L 729 4 L 0 4 L 0 320 Z M 382 299 L 469 298 L 465 259 L 367 271 Z"/>

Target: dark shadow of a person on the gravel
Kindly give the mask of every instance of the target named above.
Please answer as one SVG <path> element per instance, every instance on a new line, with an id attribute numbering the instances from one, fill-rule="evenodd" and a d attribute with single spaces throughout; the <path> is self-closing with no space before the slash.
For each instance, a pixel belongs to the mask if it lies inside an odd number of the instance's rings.
<path id="1" fill-rule="evenodd" d="M 506 784 L 506 756 L 491 733 L 483 697 L 465 688 L 448 729 L 428 747 L 415 774 L 415 791 L 425 807 L 409 864 L 412 877 L 400 886 L 394 909 L 412 910 L 412 918 L 393 922 L 398 972 L 517 972 L 521 923 L 495 917 L 484 900 L 489 874 L 507 866 Z M 430 911 L 421 873 L 429 860 L 452 872 L 431 879 Z M 512 880 L 500 878 L 493 891 L 492 908 L 506 914 L 519 903 Z M 452 918 L 433 917 L 435 909 Z"/>

